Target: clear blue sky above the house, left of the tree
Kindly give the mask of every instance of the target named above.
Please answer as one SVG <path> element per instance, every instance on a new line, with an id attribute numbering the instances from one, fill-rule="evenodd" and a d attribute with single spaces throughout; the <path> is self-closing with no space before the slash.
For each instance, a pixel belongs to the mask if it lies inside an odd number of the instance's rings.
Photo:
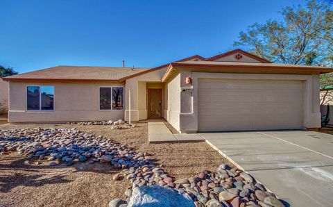
<path id="1" fill-rule="evenodd" d="M 234 49 L 240 31 L 304 1 L 0 1 L 0 65 L 156 67 Z"/>

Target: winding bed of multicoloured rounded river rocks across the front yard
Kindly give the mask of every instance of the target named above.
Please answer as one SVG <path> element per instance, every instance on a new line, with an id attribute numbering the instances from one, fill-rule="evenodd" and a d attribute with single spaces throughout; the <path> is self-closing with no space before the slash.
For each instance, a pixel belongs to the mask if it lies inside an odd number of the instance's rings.
<path id="1" fill-rule="evenodd" d="M 110 163 L 122 169 L 113 176 L 132 183 L 125 190 L 126 199 L 114 199 L 109 206 L 135 206 L 130 203 L 142 186 L 160 185 L 178 190 L 191 198 L 195 206 L 284 206 L 263 185 L 241 170 L 222 164 L 211 172 L 205 170 L 189 179 L 175 179 L 156 165 L 155 159 L 103 136 L 94 136 L 77 129 L 11 129 L 0 130 L 0 152 L 16 151 L 33 160 L 36 165 L 44 160 L 49 165 L 76 163 Z M 144 187 L 146 188 L 146 187 Z M 133 199 L 132 199 L 133 200 Z"/>

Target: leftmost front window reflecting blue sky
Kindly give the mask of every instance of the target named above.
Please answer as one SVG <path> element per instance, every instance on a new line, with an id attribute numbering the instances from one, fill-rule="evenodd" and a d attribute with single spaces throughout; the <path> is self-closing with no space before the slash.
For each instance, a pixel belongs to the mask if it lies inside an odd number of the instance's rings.
<path id="1" fill-rule="evenodd" d="M 26 92 L 27 110 L 54 110 L 53 86 L 28 86 Z"/>

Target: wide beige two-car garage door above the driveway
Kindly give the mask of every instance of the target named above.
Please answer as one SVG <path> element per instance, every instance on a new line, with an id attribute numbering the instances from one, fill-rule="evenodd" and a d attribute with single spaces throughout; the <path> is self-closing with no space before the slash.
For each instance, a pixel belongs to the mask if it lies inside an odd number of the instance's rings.
<path id="1" fill-rule="evenodd" d="M 198 131 L 302 128 L 301 81 L 198 80 Z"/>

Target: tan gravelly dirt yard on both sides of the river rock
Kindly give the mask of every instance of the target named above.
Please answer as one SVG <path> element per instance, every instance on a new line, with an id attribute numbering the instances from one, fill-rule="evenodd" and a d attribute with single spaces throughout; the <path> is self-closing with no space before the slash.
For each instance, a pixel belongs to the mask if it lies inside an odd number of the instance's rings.
<path id="1" fill-rule="evenodd" d="M 35 127 L 75 127 L 103 135 L 137 151 L 148 152 L 176 178 L 189 178 L 204 169 L 214 171 L 221 163 L 228 163 L 205 142 L 148 144 L 147 124 L 124 130 L 112 130 L 110 126 L 5 124 L 0 125 L 0 130 Z M 107 206 L 116 197 L 124 198 L 123 192 L 131 186 L 126 179 L 113 181 L 112 176 L 117 172 L 107 164 L 51 167 L 47 162 L 28 163 L 18 154 L 0 155 L 0 206 Z"/>

